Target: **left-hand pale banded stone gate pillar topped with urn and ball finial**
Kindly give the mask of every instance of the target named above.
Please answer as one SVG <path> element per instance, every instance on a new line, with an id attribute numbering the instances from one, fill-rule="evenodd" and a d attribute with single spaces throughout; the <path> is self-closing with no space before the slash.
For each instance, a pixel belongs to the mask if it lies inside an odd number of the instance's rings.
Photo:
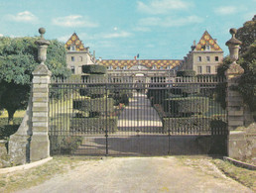
<path id="1" fill-rule="evenodd" d="M 30 145 L 30 161 L 37 161 L 50 156 L 49 126 L 49 84 L 51 71 L 45 65 L 47 48 L 50 45 L 43 37 L 45 29 L 39 30 L 41 39 L 38 59 L 41 64 L 33 72 L 32 85 L 32 138 Z"/>

